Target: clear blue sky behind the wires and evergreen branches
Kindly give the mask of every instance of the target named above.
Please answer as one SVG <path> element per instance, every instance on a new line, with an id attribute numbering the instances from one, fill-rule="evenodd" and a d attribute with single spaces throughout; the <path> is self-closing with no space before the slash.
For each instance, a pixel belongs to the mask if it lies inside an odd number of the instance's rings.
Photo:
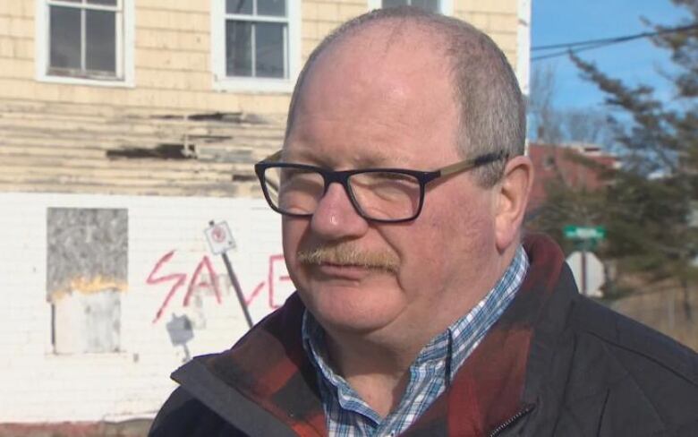
<path id="1" fill-rule="evenodd" d="M 651 30 L 641 17 L 671 27 L 681 25 L 688 14 L 669 0 L 532 0 L 532 47 L 588 39 L 613 38 Z M 547 52 L 532 51 L 532 56 Z M 636 39 L 579 54 L 595 62 L 600 70 L 628 84 L 654 86 L 662 99 L 670 99 L 671 89 L 661 79 L 660 70 L 671 66 L 668 52 L 654 47 L 648 39 Z M 603 95 L 584 81 L 567 56 L 532 61 L 536 68 L 550 65 L 556 75 L 557 107 L 600 107 Z"/>

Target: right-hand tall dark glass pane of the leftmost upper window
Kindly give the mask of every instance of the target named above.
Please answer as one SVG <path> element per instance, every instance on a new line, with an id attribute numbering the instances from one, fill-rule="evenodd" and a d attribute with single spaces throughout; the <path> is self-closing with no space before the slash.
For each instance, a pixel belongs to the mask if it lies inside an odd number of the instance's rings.
<path id="1" fill-rule="evenodd" d="M 85 64 L 88 70 L 116 72 L 116 13 L 86 11 Z"/>

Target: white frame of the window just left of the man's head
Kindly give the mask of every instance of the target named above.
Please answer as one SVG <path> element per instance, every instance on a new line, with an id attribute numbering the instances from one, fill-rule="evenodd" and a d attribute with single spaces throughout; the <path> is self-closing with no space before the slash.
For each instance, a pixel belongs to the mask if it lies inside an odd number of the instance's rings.
<path id="1" fill-rule="evenodd" d="M 211 72 L 213 89 L 218 91 L 243 92 L 291 92 L 301 70 L 301 0 L 286 1 L 286 17 L 234 15 L 226 13 L 226 0 L 211 0 Z M 226 75 L 226 19 L 240 18 L 244 21 L 285 22 L 286 77 L 283 79 L 263 77 L 231 77 Z"/>

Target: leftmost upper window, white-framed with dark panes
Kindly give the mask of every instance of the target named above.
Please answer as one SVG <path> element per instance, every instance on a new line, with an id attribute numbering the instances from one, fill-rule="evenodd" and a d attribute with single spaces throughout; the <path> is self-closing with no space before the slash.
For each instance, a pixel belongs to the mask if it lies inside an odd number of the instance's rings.
<path id="1" fill-rule="evenodd" d="M 132 0 L 44 0 L 37 21 L 38 76 L 58 81 L 130 79 Z M 131 26 L 126 26 L 131 21 Z M 130 39 L 130 38 L 129 38 Z"/>

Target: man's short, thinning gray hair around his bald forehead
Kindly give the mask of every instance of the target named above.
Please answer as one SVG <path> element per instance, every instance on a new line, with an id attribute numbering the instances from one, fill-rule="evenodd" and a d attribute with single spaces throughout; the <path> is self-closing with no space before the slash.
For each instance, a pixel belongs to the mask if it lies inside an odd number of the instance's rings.
<path id="1" fill-rule="evenodd" d="M 514 71 L 504 53 L 480 30 L 455 18 L 414 7 L 378 9 L 346 21 L 312 51 L 295 84 L 285 136 L 291 131 L 295 107 L 308 71 L 319 55 L 336 40 L 362 30 L 367 24 L 387 20 L 424 24 L 445 38 L 455 99 L 460 104 L 459 154 L 463 158 L 504 151 L 509 157 L 524 154 L 526 120 L 524 99 Z M 483 186 L 498 182 L 506 162 L 499 160 L 476 170 Z"/>

